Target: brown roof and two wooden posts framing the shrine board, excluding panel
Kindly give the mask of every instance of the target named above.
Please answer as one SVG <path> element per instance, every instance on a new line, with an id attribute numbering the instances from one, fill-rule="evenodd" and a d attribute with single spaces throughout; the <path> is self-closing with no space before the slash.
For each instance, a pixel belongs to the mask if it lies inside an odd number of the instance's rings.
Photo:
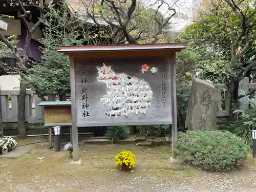
<path id="1" fill-rule="evenodd" d="M 75 84 L 75 58 L 77 57 L 137 57 L 137 56 L 170 56 L 171 87 L 172 92 L 172 143 L 173 151 L 177 142 L 177 101 L 176 101 L 176 52 L 186 49 L 186 43 L 179 44 L 146 44 L 146 45 L 105 45 L 105 46 L 74 46 L 59 47 L 57 50 L 70 56 L 70 82 L 71 82 L 71 110 L 72 110 L 72 140 L 73 160 L 79 160 L 78 132 L 77 132 L 77 105 Z M 173 153 L 173 158 L 176 158 Z"/>

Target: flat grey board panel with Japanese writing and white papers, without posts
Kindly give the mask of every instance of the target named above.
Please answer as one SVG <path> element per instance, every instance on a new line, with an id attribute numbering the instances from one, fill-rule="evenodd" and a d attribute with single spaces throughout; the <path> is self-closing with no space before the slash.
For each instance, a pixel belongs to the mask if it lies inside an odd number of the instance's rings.
<path id="1" fill-rule="evenodd" d="M 170 56 L 74 62 L 77 126 L 172 124 Z"/>

